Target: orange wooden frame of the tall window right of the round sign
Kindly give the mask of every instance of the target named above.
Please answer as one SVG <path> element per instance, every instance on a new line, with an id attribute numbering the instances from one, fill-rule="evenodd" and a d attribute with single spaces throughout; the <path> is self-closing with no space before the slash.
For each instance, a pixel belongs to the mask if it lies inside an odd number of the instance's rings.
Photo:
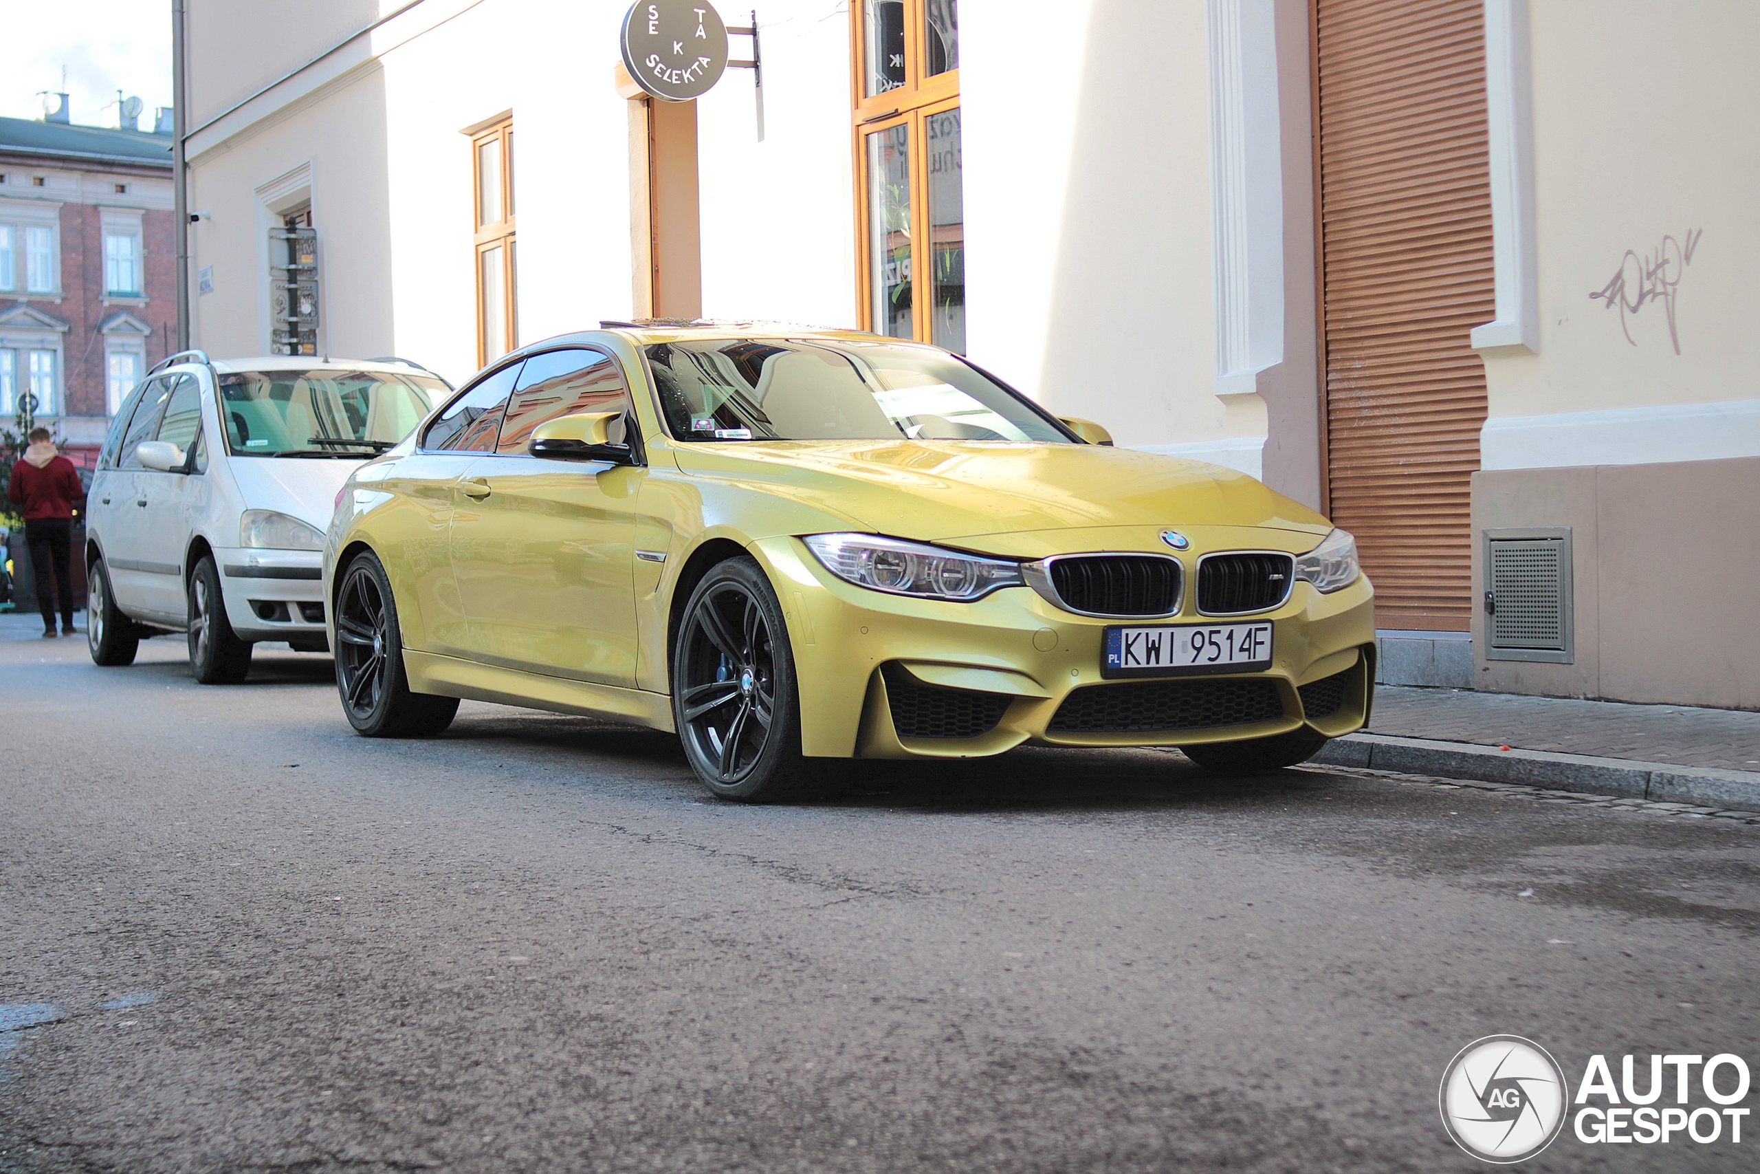
<path id="1" fill-rule="evenodd" d="M 868 70 L 866 4 L 850 0 L 850 146 L 855 153 L 855 305 L 864 331 L 873 331 L 873 285 L 868 241 L 868 136 L 910 127 L 910 336 L 931 341 L 929 294 L 935 273 L 935 243 L 929 239 L 928 120 L 959 107 L 959 70 L 922 76 L 922 0 L 905 4 L 905 84 L 873 97 L 862 93 Z"/>

